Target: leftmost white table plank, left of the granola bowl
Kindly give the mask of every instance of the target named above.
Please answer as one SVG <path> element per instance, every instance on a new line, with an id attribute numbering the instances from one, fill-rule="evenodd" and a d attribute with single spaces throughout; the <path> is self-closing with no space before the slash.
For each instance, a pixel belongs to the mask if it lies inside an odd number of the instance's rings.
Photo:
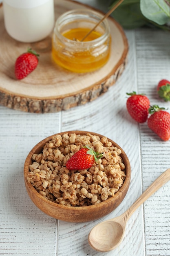
<path id="1" fill-rule="evenodd" d="M 48 123 L 41 115 L 25 114 L 0 107 L 0 254 L 52 256 L 57 221 L 29 199 L 23 164 L 36 141 L 59 130 L 60 113 L 55 120 L 54 114 L 49 114 Z"/>

